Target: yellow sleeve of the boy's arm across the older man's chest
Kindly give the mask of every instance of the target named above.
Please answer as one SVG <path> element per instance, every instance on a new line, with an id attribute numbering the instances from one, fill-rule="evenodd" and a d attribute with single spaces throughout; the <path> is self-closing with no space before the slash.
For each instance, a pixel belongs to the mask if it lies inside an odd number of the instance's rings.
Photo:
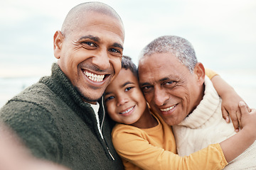
<path id="1" fill-rule="evenodd" d="M 128 125 L 114 128 L 112 132 L 112 141 L 120 157 L 141 169 L 223 169 L 228 164 L 219 144 L 179 157 L 151 145 L 145 138 L 143 130 Z"/>

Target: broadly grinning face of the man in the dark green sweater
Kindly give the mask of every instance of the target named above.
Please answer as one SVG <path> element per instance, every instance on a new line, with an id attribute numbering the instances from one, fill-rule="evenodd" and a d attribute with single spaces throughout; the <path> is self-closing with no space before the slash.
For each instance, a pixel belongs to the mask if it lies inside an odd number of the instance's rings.
<path id="1" fill-rule="evenodd" d="M 124 28 L 111 16 L 86 16 L 70 34 L 55 33 L 55 57 L 85 101 L 94 103 L 121 69 Z"/>

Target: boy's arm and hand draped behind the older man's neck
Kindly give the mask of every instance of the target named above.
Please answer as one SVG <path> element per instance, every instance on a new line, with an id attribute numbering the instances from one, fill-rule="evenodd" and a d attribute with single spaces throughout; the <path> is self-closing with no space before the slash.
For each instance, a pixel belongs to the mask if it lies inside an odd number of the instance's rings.
<path id="1" fill-rule="evenodd" d="M 241 113 L 238 107 L 238 103 L 243 101 L 242 98 L 235 92 L 232 86 L 225 82 L 216 72 L 211 69 L 206 69 L 206 75 L 213 82 L 215 90 L 218 92 L 219 96 L 222 98 L 221 110 L 223 113 L 223 118 L 227 123 L 232 120 L 235 131 L 239 131 L 239 126 L 241 125 Z M 250 108 L 248 108 L 250 111 Z M 230 118 L 229 116 L 230 115 Z"/>

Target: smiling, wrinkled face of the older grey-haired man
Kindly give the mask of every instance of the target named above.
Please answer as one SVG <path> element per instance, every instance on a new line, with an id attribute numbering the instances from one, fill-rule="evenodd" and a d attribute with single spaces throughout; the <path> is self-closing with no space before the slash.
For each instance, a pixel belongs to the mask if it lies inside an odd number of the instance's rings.
<path id="1" fill-rule="evenodd" d="M 151 108 L 169 125 L 181 123 L 200 102 L 196 74 L 169 52 L 139 62 L 139 84 Z"/>

